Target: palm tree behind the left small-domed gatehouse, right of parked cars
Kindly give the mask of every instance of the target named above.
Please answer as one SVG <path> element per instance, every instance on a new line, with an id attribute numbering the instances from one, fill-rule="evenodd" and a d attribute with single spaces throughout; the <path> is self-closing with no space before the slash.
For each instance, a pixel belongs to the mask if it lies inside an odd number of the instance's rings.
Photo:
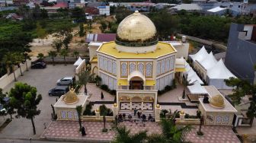
<path id="1" fill-rule="evenodd" d="M 91 74 L 91 71 L 86 70 L 86 71 L 81 71 L 78 74 L 78 84 L 83 84 L 85 86 L 85 94 L 87 94 L 87 88 L 86 84 L 88 84 L 88 81 L 90 81 L 94 74 Z"/>

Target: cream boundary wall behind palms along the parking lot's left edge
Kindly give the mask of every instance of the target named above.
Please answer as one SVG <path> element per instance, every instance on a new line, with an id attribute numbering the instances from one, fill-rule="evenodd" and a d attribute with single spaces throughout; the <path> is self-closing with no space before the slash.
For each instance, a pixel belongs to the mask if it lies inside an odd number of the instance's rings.
<path id="1" fill-rule="evenodd" d="M 24 71 L 27 70 L 27 68 L 31 67 L 31 62 L 36 61 L 37 58 L 32 58 L 31 60 L 27 60 L 27 67 L 26 67 L 26 63 L 21 64 L 21 71 L 22 73 L 24 73 Z M 14 70 L 14 74 L 16 76 L 16 78 L 18 78 L 19 76 L 21 76 L 21 71 L 20 68 L 15 66 L 15 70 Z M 10 73 L 10 75 L 5 74 L 0 78 L 0 88 L 5 88 L 8 84 L 10 84 L 12 81 L 14 81 L 14 74 L 13 72 Z"/>

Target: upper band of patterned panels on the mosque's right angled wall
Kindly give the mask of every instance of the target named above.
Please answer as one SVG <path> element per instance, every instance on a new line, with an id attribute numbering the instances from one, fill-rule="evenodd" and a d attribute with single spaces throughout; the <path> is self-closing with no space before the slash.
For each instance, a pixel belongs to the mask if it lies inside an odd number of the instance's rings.
<path id="1" fill-rule="evenodd" d="M 159 60 L 156 63 L 156 75 L 163 75 L 168 71 L 174 70 L 174 56 L 168 57 L 166 59 Z"/>

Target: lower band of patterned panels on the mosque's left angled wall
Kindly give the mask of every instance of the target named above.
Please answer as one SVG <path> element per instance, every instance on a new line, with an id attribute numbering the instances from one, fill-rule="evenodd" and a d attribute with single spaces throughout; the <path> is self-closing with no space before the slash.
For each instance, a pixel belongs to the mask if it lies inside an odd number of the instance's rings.
<path id="1" fill-rule="evenodd" d="M 107 85 L 107 87 L 109 87 L 110 90 L 116 90 L 117 88 L 117 79 L 116 78 L 112 78 L 109 75 L 106 75 L 102 72 L 100 72 L 100 77 L 101 77 L 101 84 L 105 84 Z"/>

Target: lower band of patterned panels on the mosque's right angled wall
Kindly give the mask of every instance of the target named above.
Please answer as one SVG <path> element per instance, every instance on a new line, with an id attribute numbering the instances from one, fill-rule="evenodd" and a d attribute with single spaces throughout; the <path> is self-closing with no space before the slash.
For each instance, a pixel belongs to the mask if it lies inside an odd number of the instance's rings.
<path id="1" fill-rule="evenodd" d="M 158 78 L 156 79 L 156 83 L 155 83 L 155 87 L 158 91 L 162 91 L 163 89 L 165 89 L 165 86 L 172 84 L 173 81 L 173 72 L 169 75 L 165 75 L 162 78 Z"/>

